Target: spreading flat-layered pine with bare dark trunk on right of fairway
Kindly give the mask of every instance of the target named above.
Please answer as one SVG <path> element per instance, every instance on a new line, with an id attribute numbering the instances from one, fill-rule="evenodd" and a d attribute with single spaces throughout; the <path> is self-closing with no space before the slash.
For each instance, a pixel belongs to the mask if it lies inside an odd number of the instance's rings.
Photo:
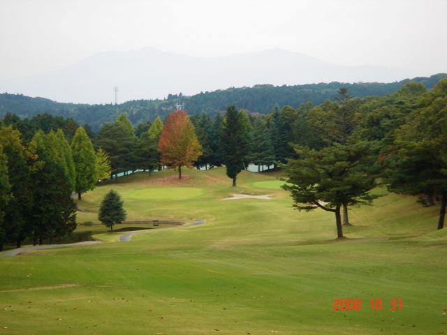
<path id="1" fill-rule="evenodd" d="M 316 208 L 335 213 L 337 237 L 343 237 L 340 209 L 343 204 L 371 204 L 379 195 L 376 187 L 380 166 L 371 142 L 333 144 L 320 151 L 295 146 L 298 160 L 288 160 L 284 167 L 295 209 Z"/>

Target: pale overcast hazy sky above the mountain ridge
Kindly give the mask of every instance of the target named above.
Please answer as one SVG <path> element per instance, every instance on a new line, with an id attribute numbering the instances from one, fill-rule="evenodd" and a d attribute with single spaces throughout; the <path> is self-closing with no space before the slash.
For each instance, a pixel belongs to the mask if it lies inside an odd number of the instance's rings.
<path id="1" fill-rule="evenodd" d="M 0 0 L 0 79 L 147 46 L 205 57 L 281 47 L 447 73 L 446 14 L 446 0 Z"/>

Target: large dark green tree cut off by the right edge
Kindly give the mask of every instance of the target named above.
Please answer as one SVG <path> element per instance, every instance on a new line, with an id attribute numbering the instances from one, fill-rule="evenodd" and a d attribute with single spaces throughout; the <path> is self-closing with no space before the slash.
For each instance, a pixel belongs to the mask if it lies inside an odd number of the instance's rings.
<path id="1" fill-rule="evenodd" d="M 386 156 L 386 182 L 390 191 L 425 195 L 432 202 L 433 197 L 441 195 L 438 229 L 444 228 L 447 204 L 446 129 L 447 79 L 444 79 L 423 94 L 407 124 L 395 131 L 394 150 Z"/>

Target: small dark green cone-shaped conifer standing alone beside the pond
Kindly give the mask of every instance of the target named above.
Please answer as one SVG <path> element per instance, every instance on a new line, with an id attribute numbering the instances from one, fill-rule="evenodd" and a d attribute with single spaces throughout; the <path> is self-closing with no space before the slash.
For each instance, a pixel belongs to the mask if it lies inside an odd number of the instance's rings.
<path id="1" fill-rule="evenodd" d="M 126 220 L 126 210 L 123 207 L 124 202 L 121 200 L 119 194 L 110 190 L 105 196 L 101 205 L 99 206 L 98 220 L 106 227 L 110 227 L 110 232 L 113 232 L 113 226 L 117 223 L 122 223 Z"/>

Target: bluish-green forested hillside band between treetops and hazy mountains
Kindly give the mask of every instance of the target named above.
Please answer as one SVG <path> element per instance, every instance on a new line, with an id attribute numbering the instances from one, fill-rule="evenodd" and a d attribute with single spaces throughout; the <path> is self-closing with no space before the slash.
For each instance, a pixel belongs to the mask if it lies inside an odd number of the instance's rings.
<path id="1" fill-rule="evenodd" d="M 434 84 L 444 77 L 447 77 L 447 74 L 416 77 L 412 81 L 421 82 L 430 90 L 434 87 Z M 184 103 L 184 108 L 190 115 L 205 111 L 210 117 L 214 117 L 217 111 L 225 110 L 232 103 L 248 112 L 268 114 L 275 105 L 290 105 L 298 108 L 302 103 L 307 102 L 311 102 L 313 105 L 321 105 L 326 99 L 335 101 L 334 97 L 337 96 L 341 87 L 349 89 L 349 93 L 355 98 L 385 96 L 394 93 L 409 81 L 411 80 L 407 79 L 389 84 L 331 82 L 330 84 L 284 85 L 281 87 L 265 84 L 205 92 L 195 96 L 170 94 L 164 100 L 128 101 L 119 105 L 57 103 L 45 98 L 31 98 L 5 93 L 0 94 L 0 118 L 3 118 L 8 112 L 21 118 L 31 118 L 46 112 L 64 118 L 71 117 L 78 124 L 89 124 L 94 131 L 97 131 L 101 124 L 114 121 L 123 112 L 127 114 L 133 125 L 148 120 L 154 121 L 158 115 L 164 120 L 174 110 L 175 104 L 179 102 Z"/>

